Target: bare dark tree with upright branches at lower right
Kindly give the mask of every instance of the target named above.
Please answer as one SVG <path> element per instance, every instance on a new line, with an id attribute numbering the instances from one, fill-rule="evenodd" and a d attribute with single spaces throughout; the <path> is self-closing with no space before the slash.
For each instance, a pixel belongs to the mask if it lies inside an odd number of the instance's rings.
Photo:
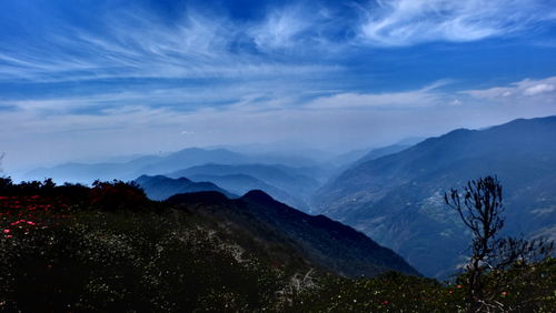
<path id="1" fill-rule="evenodd" d="M 466 266 L 469 311 L 506 310 L 494 301 L 494 293 L 486 294 L 484 275 L 503 271 L 516 261 L 535 262 L 549 255 L 553 242 L 499 238 L 504 226 L 503 188 L 496 176 L 486 176 L 467 183 L 460 194 L 451 189 L 445 193 L 448 206 L 456 210 L 464 224 L 471 231 L 471 256 Z"/>

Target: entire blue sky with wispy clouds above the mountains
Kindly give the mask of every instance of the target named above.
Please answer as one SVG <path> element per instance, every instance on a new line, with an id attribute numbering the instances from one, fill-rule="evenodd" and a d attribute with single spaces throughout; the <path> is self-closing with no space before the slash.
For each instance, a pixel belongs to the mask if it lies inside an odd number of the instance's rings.
<path id="1" fill-rule="evenodd" d="M 556 114 L 554 0 L 2 0 L 6 173 Z"/>

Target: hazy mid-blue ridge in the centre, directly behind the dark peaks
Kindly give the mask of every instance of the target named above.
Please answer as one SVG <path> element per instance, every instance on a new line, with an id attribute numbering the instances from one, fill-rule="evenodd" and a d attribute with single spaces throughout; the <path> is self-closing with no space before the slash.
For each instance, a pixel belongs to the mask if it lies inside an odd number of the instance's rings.
<path id="1" fill-rule="evenodd" d="M 205 164 L 172 172 L 168 176 L 207 180 L 241 194 L 250 189 L 261 189 L 282 202 L 307 211 L 310 195 L 321 185 L 312 178 L 316 171 L 315 168 L 278 164 Z"/>

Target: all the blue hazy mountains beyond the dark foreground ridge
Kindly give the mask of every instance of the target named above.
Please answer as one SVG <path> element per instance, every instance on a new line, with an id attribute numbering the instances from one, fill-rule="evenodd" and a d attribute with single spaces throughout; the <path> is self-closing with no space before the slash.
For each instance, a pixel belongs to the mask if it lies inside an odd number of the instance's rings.
<path id="1" fill-rule="evenodd" d="M 289 206 L 365 232 L 425 275 L 447 277 L 465 262 L 471 234 L 447 209 L 444 193 L 469 180 L 498 176 L 504 185 L 506 234 L 556 238 L 554 138 L 556 117 L 549 117 L 458 129 L 367 153 L 354 151 L 325 163 L 285 154 L 185 149 L 122 162 L 67 163 L 38 169 L 29 176 L 73 182 L 139 176 L 137 182 L 153 200 L 197 191 L 238 198 L 262 190 Z"/>

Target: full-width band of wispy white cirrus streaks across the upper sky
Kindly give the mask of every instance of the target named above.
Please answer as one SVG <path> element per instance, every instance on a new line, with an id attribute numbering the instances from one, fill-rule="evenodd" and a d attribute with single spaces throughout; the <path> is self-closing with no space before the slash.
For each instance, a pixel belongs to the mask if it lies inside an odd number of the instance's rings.
<path id="1" fill-rule="evenodd" d="M 96 29 L 62 23 L 32 44 L 2 44 L 0 80 L 327 75 L 357 49 L 476 41 L 556 20 L 542 0 L 393 0 L 358 10 L 304 3 L 269 7 L 256 20 L 190 8 L 172 22 L 120 8 Z"/>

